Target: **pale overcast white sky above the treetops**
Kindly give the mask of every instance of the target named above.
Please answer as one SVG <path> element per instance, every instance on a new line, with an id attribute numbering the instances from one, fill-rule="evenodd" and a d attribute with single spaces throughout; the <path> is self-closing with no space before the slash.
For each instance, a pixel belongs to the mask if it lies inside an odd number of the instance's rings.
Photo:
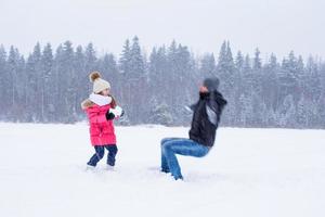
<path id="1" fill-rule="evenodd" d="M 324 0 L 0 0 L 0 44 L 27 54 L 36 41 L 92 41 L 118 55 L 138 35 L 147 52 L 176 39 L 196 54 L 218 54 L 229 39 L 233 53 L 259 47 L 262 58 L 290 50 L 324 58 Z"/>

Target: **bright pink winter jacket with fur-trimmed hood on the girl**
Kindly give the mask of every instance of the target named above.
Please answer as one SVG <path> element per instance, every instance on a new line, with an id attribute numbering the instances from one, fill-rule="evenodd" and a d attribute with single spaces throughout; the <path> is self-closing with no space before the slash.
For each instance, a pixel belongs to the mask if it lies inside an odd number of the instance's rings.
<path id="1" fill-rule="evenodd" d="M 116 144 L 113 120 L 107 120 L 105 116 L 110 105 L 100 106 L 86 100 L 82 102 L 81 107 L 86 111 L 89 118 L 91 144 L 93 146 Z"/>

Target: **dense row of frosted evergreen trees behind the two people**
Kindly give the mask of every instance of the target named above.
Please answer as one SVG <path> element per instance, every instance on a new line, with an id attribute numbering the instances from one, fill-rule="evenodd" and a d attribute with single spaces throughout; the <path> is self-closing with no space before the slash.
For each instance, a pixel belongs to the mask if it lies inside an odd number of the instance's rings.
<path id="1" fill-rule="evenodd" d="M 94 44 L 66 41 L 57 48 L 37 43 L 28 56 L 0 47 L 2 122 L 76 123 L 86 119 L 80 102 L 91 92 L 88 75 L 99 71 L 126 110 L 119 124 L 187 126 L 185 105 L 197 100 L 200 81 L 221 80 L 229 101 L 223 126 L 325 128 L 325 62 L 290 52 L 262 59 L 232 51 L 198 56 L 177 41 L 141 49 L 139 38 L 126 40 L 121 54 L 99 54 Z M 253 49 L 253 48 L 252 48 Z"/>

